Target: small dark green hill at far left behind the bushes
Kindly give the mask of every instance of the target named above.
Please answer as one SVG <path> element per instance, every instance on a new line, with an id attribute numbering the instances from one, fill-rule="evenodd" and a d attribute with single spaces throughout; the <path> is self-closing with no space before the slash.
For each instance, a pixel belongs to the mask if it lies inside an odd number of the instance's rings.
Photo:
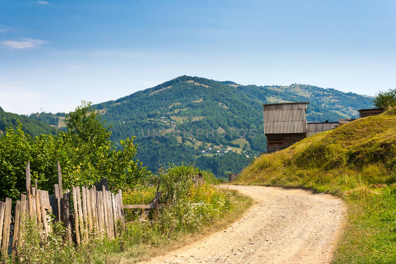
<path id="1" fill-rule="evenodd" d="M 41 122 L 28 118 L 25 115 L 13 114 L 4 112 L 3 108 L 0 107 L 0 139 L 3 137 L 6 127 L 17 127 L 19 120 L 23 124 L 23 130 L 29 133 L 32 137 L 36 137 L 40 134 L 57 134 L 58 129 L 54 126 L 48 125 L 47 122 Z"/>

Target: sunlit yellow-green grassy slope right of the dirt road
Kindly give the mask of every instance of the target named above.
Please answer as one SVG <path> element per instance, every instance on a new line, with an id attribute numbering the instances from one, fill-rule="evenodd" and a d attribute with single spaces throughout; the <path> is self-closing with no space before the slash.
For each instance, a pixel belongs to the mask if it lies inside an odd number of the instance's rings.
<path id="1" fill-rule="evenodd" d="M 348 207 L 333 263 L 396 263 L 396 116 L 362 118 L 257 158 L 236 184 L 303 187 Z"/>

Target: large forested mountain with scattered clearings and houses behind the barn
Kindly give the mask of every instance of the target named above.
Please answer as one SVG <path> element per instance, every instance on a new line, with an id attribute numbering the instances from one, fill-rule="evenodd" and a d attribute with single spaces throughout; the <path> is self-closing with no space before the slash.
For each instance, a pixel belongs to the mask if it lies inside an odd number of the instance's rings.
<path id="1" fill-rule="evenodd" d="M 136 136 L 137 156 L 150 170 L 195 161 L 224 176 L 266 151 L 262 104 L 287 101 L 309 101 L 308 121 L 356 117 L 356 110 L 372 107 L 369 97 L 312 85 L 239 85 L 191 76 L 94 107 L 112 125 L 112 141 Z"/>

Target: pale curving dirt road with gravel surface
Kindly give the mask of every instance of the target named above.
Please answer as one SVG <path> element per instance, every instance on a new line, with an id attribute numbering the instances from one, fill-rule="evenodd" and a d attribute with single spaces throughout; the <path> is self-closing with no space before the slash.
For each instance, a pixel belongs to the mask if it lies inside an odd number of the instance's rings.
<path id="1" fill-rule="evenodd" d="M 341 199 L 299 189 L 228 187 L 255 200 L 240 220 L 145 263 L 330 262 L 343 222 Z"/>

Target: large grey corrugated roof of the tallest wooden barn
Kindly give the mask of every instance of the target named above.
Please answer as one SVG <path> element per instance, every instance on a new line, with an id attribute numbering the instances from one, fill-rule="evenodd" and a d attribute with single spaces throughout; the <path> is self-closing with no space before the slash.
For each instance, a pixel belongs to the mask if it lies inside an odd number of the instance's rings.
<path id="1" fill-rule="evenodd" d="M 307 133 L 307 104 L 309 102 L 263 104 L 264 133 Z"/>

